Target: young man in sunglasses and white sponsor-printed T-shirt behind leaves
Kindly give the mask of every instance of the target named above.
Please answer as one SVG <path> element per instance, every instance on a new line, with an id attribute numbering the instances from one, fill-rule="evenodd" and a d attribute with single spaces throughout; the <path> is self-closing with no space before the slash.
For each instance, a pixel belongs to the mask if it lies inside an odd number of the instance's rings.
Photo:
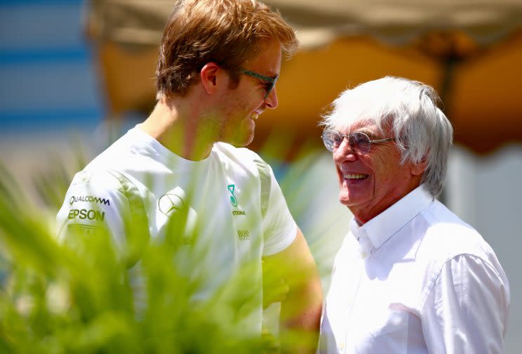
<path id="1" fill-rule="evenodd" d="M 187 259 L 183 247 L 208 250 L 187 270 L 210 275 L 197 297 L 246 265 L 261 282 L 263 262 L 288 285 L 284 327 L 318 329 L 321 287 L 307 243 L 272 170 L 236 147 L 248 145 L 260 114 L 277 106 L 281 56 L 296 47 L 281 15 L 257 1 L 179 1 L 161 41 L 156 107 L 75 176 L 58 214 L 60 239 L 103 223 L 132 264 L 147 242 L 172 237 L 175 224 L 180 259 Z M 131 230 L 126 216 L 146 227 Z M 269 300 L 256 299 L 252 323 L 260 332 Z"/>

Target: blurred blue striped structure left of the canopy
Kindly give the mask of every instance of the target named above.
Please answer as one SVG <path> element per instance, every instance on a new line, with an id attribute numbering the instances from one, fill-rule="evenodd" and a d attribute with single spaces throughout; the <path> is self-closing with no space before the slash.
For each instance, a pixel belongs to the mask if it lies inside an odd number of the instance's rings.
<path id="1" fill-rule="evenodd" d="M 105 116 L 84 1 L 0 1 L 0 136 L 94 128 Z"/>

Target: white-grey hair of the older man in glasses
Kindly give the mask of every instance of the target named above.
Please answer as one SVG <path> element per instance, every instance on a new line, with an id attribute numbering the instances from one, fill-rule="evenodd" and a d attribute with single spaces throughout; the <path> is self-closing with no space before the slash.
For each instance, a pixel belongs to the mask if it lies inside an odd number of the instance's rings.
<path id="1" fill-rule="evenodd" d="M 391 128 L 401 164 L 427 161 L 421 183 L 436 197 L 446 178 L 453 140 L 453 128 L 437 107 L 439 101 L 436 91 L 422 82 L 383 77 L 343 91 L 321 124 L 328 129 L 347 129 L 363 121 L 375 124 L 380 133 Z"/>

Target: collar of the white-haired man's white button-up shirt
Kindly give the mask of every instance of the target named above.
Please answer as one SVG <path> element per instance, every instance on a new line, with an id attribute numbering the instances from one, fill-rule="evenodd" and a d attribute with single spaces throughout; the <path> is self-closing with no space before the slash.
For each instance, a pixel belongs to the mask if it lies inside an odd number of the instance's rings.
<path id="1" fill-rule="evenodd" d="M 366 258 L 364 255 L 369 255 L 373 248 L 381 247 L 392 235 L 395 235 L 417 214 L 426 209 L 431 202 L 433 202 L 433 197 L 423 185 L 420 185 L 362 226 L 359 226 L 355 218 L 352 218 L 350 229 L 356 240 L 359 241 L 361 256 Z"/>

